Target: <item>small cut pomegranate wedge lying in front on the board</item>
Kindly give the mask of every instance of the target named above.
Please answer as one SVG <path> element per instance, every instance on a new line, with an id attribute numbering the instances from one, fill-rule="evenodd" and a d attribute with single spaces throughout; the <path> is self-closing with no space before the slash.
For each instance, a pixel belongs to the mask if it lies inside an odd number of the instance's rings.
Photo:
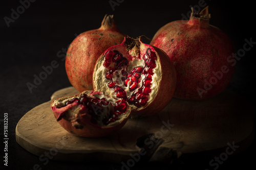
<path id="1" fill-rule="evenodd" d="M 125 100 L 90 90 L 55 99 L 51 108 L 64 129 L 84 137 L 103 137 L 116 132 L 124 126 L 131 113 L 131 107 Z"/>

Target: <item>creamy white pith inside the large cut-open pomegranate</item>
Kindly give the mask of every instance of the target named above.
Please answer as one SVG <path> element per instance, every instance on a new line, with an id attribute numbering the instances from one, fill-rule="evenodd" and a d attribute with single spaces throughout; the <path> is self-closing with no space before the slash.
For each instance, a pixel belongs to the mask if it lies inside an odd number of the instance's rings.
<path id="1" fill-rule="evenodd" d="M 143 44 L 141 44 L 141 46 L 143 46 Z M 113 47 L 113 49 L 111 49 L 112 51 L 117 50 L 119 53 L 121 53 L 123 55 L 123 57 L 125 57 L 126 59 L 129 58 L 133 58 L 132 61 L 130 59 L 129 63 L 127 64 L 127 73 L 131 72 L 132 68 L 137 67 L 137 66 L 144 66 L 144 60 L 142 59 L 142 56 L 144 54 L 139 54 L 137 47 L 133 47 L 132 50 L 130 50 L 129 52 L 126 52 L 126 48 L 115 48 Z M 151 48 L 151 50 L 153 52 L 154 48 Z M 155 52 L 156 53 L 156 52 Z M 156 55 L 158 56 L 158 54 L 156 53 Z M 105 72 L 107 70 L 110 70 L 111 68 L 114 67 L 114 62 L 111 63 L 111 65 L 108 68 L 105 68 L 103 66 L 103 62 L 104 62 L 104 54 L 99 58 L 95 69 L 94 69 L 94 87 L 95 90 L 100 90 L 100 91 L 104 91 L 106 95 L 111 96 L 112 98 L 117 98 L 116 96 L 116 92 L 114 92 L 112 90 L 112 88 L 108 87 L 108 83 L 110 82 L 110 80 L 105 78 Z M 130 105 L 132 109 L 136 109 L 136 110 L 140 110 L 145 108 L 149 103 L 151 103 L 155 96 L 158 94 L 159 91 L 159 86 L 160 86 L 160 82 L 161 82 L 161 76 L 162 76 L 162 71 L 161 71 L 161 64 L 159 61 L 159 58 L 157 57 L 157 60 L 155 60 L 156 63 L 156 67 L 153 69 L 153 76 L 152 76 L 152 85 L 151 85 L 151 92 L 146 96 L 148 98 L 147 104 L 143 107 L 137 108 L 134 105 Z M 139 83 L 138 83 L 138 88 L 140 88 L 142 86 L 142 80 L 145 78 L 144 74 L 141 73 L 141 77 L 139 79 Z M 97 81 L 102 81 L 102 83 L 96 83 L 95 80 Z M 116 78 L 113 78 L 113 82 L 116 80 Z M 127 98 L 129 98 L 129 96 L 132 95 L 132 93 L 134 91 L 130 91 L 129 86 L 131 84 L 131 80 L 129 81 L 129 83 L 127 84 L 127 87 L 125 87 L 124 85 L 119 85 L 116 84 L 120 87 L 122 87 L 127 95 Z M 137 88 L 137 89 L 138 89 Z"/>

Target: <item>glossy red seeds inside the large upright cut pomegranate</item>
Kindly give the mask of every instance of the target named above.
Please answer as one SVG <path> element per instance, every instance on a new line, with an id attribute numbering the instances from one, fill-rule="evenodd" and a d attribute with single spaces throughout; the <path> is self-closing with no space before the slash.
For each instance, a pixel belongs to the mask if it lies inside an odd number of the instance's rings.
<path id="1" fill-rule="evenodd" d="M 153 69 L 156 67 L 156 59 L 156 53 L 152 52 L 151 48 L 147 48 L 146 54 L 143 55 L 144 66 L 134 67 L 131 72 L 127 73 L 127 70 L 125 70 L 127 68 L 127 59 L 122 57 L 122 54 L 118 51 L 109 51 L 105 55 L 103 66 L 108 67 L 111 62 L 115 62 L 115 68 L 105 72 L 105 78 L 110 80 L 108 86 L 113 88 L 118 98 L 126 100 L 129 104 L 135 105 L 136 107 L 145 106 L 148 101 L 148 95 L 151 92 Z M 142 80 L 142 86 L 138 88 L 142 74 L 144 75 L 144 79 Z M 131 83 L 127 87 L 130 81 Z M 125 90 L 120 87 L 121 85 L 133 91 L 129 98 L 127 98 Z"/>

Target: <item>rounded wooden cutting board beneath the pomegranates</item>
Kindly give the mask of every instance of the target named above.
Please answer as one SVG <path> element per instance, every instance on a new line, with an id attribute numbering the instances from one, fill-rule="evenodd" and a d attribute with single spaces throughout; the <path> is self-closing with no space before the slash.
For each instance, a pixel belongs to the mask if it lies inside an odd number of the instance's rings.
<path id="1" fill-rule="evenodd" d="M 78 93 L 74 87 L 60 89 L 51 101 Z M 132 117 L 117 133 L 103 138 L 68 133 L 56 122 L 51 101 L 27 112 L 16 126 L 16 141 L 39 159 L 48 153 L 55 160 L 120 163 L 140 154 L 140 160 L 168 162 L 229 144 L 244 150 L 254 136 L 253 106 L 229 91 L 202 101 L 172 99 L 161 112 Z"/>

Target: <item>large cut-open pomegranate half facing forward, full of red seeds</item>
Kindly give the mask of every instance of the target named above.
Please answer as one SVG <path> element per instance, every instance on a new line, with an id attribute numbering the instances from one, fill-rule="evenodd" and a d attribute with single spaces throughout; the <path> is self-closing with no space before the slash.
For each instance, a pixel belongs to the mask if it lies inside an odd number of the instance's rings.
<path id="1" fill-rule="evenodd" d="M 95 64 L 93 86 L 127 101 L 136 115 L 152 115 L 172 99 L 176 71 L 165 52 L 143 43 L 142 37 L 125 37 L 108 48 Z"/>

